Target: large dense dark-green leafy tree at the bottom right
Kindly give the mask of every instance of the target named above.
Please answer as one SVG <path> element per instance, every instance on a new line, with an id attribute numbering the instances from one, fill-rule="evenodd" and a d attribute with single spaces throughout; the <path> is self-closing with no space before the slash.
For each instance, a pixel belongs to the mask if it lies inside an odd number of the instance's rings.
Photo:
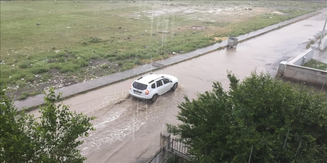
<path id="1" fill-rule="evenodd" d="M 269 74 L 252 72 L 242 82 L 231 74 L 230 90 L 185 96 L 167 131 L 189 145 L 195 162 L 324 162 L 327 99 Z"/>

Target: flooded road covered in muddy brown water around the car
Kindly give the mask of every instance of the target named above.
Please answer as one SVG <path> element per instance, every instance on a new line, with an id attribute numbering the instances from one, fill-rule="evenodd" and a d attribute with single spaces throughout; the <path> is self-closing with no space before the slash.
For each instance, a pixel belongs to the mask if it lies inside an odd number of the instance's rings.
<path id="1" fill-rule="evenodd" d="M 226 70 L 243 79 L 252 70 L 275 76 L 279 63 L 304 52 L 305 45 L 323 27 L 326 14 L 318 14 L 239 43 L 237 48 L 212 52 L 198 58 L 166 67 L 154 74 L 169 74 L 179 79 L 175 92 L 168 92 L 154 104 L 130 98 L 128 89 L 137 79 L 119 82 L 89 93 L 64 100 L 71 110 L 96 116 L 96 128 L 79 147 L 85 162 L 131 163 L 146 160 L 159 149 L 159 135 L 165 123 L 178 124 L 175 115 L 183 96 L 196 98 L 196 93 L 212 89 L 219 81 L 225 90 L 229 82 Z M 30 111 L 35 115 L 37 111 Z"/>

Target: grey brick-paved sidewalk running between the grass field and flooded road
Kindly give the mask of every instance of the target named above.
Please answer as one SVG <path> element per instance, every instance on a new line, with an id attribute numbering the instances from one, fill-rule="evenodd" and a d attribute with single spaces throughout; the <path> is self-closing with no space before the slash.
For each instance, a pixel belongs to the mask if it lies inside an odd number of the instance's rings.
<path id="1" fill-rule="evenodd" d="M 250 32 L 245 35 L 238 36 L 237 38 L 238 38 L 238 41 L 240 42 L 240 41 L 250 39 L 252 37 L 257 37 L 259 35 L 262 35 L 267 32 L 270 32 L 274 29 L 277 29 L 281 26 L 285 26 L 285 25 L 289 25 L 294 22 L 301 21 L 303 19 L 314 16 L 318 13 L 320 13 L 320 11 L 311 12 L 311 13 L 308 13 L 308 14 L 305 14 L 305 15 L 302 15 L 302 16 L 284 21 L 284 22 L 280 22 L 280 23 L 268 26 L 266 28 L 263 28 L 263 29 L 260 29 L 257 31 Z M 126 70 L 126 71 L 114 73 L 114 74 L 104 76 L 101 78 L 97 78 L 97 79 L 93 79 L 90 81 L 80 82 L 80 83 L 73 84 L 73 85 L 70 85 L 67 87 L 62 87 L 62 88 L 56 89 L 55 92 L 56 92 L 56 94 L 61 92 L 62 93 L 61 98 L 67 97 L 67 96 L 72 96 L 77 93 L 92 90 L 92 89 L 100 87 L 100 86 L 108 85 L 113 82 L 118 82 L 118 81 L 125 80 L 127 78 L 134 77 L 134 76 L 137 76 L 137 75 L 149 72 L 149 71 L 153 71 L 158 68 L 176 64 L 176 63 L 197 57 L 199 55 L 203 55 L 207 52 L 214 51 L 219 47 L 225 47 L 225 45 L 227 45 L 227 40 L 225 40 L 221 43 L 216 43 L 216 44 L 208 46 L 208 47 L 197 49 L 195 51 L 176 55 L 176 56 L 164 59 L 164 60 L 160 60 L 160 61 L 156 61 L 154 63 L 142 65 L 142 66 L 139 66 L 139 67 L 136 67 L 133 69 Z M 44 103 L 43 99 L 44 99 L 44 95 L 39 94 L 36 96 L 27 97 L 26 99 L 23 99 L 23 100 L 14 101 L 14 105 L 18 108 L 18 111 L 20 111 L 20 110 L 23 110 L 24 108 L 30 108 L 30 107 L 34 107 L 34 106 L 43 104 Z"/>

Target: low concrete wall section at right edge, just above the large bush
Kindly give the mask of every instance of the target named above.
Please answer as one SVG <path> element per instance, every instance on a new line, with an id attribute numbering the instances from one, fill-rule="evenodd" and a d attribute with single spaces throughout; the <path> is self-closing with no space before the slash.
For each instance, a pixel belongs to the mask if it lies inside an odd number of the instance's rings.
<path id="1" fill-rule="evenodd" d="M 296 65 L 286 65 L 284 78 L 307 82 L 317 86 L 327 86 L 327 71 Z"/>

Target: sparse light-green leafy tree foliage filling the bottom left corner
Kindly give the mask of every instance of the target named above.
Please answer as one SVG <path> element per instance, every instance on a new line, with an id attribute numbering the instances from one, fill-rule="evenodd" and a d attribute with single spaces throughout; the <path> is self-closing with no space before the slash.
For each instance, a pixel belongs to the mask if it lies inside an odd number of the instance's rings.
<path id="1" fill-rule="evenodd" d="M 45 93 L 45 106 L 40 107 L 41 116 L 34 118 L 12 105 L 1 91 L 1 162 L 83 162 L 77 146 L 94 130 L 91 120 L 83 113 L 69 111 L 69 106 L 55 102 L 54 88 Z M 19 138 L 19 139 L 17 139 Z M 24 148 L 22 148 L 22 146 Z"/>

